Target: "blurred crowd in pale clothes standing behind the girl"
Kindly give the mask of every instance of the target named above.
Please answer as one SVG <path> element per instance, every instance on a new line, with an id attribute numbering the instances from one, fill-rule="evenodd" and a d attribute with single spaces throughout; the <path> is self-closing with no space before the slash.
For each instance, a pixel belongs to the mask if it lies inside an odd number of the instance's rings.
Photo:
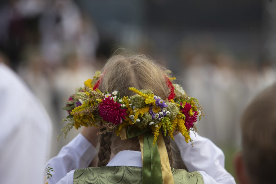
<path id="1" fill-rule="evenodd" d="M 100 38 L 91 17 L 74 1 L 10 0 L 0 5 L 1 58 L 26 81 L 50 114 L 51 158 L 78 132 L 56 142 L 64 126 L 59 122 L 67 114 L 62 110 L 63 98 L 101 69 L 112 45 Z M 125 39 L 116 44 L 123 43 Z M 140 40 L 134 51 L 159 60 L 157 45 Z M 183 79 L 178 83 L 187 94 L 204 108 L 198 132 L 218 145 L 239 146 L 240 115 L 256 93 L 276 81 L 275 66 L 270 60 L 250 61 L 215 47 L 179 47 L 177 71 L 173 72 Z M 174 65 L 167 59 L 164 62 L 168 68 Z"/>

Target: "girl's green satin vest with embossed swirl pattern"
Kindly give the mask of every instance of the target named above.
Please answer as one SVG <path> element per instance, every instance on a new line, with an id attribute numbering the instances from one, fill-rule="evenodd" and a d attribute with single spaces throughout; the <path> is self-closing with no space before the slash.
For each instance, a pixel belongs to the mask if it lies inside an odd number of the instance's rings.
<path id="1" fill-rule="evenodd" d="M 175 184 L 204 184 L 198 172 L 187 172 L 185 169 L 171 170 Z M 74 172 L 74 184 L 138 184 L 142 182 L 142 168 L 130 166 L 97 167 L 77 169 Z M 159 184 L 158 181 L 150 183 Z M 148 183 L 148 184 L 150 184 Z"/>

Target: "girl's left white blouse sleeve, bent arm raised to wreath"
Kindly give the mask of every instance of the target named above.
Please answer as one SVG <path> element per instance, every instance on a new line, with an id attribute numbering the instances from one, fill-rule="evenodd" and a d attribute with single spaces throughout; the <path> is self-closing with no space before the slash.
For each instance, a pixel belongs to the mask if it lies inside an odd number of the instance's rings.
<path id="1" fill-rule="evenodd" d="M 78 134 L 61 148 L 57 156 L 48 161 L 47 164 L 55 170 L 52 178 L 48 180 L 49 184 L 57 183 L 69 171 L 88 167 L 95 154 L 94 146 L 82 134 Z"/>

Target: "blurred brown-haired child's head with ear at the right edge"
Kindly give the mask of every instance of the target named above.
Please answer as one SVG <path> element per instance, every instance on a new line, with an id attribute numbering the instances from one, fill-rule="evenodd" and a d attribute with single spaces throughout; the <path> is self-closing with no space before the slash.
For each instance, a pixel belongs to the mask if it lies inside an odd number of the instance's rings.
<path id="1" fill-rule="evenodd" d="M 241 121 L 242 153 L 235 168 L 242 184 L 275 183 L 276 83 L 246 108 Z"/>

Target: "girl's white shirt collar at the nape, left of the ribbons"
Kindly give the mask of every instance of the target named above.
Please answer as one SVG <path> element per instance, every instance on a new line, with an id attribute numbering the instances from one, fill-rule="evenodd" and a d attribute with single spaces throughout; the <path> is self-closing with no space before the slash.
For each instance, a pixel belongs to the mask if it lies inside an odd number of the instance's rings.
<path id="1" fill-rule="evenodd" d="M 111 161 L 106 166 L 142 167 L 141 151 L 120 151 L 111 159 Z"/>

